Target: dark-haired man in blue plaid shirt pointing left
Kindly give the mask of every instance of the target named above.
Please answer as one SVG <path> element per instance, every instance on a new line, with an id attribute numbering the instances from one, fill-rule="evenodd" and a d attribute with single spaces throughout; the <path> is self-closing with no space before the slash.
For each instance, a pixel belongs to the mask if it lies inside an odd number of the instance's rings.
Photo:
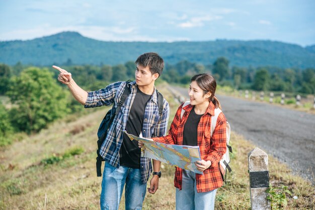
<path id="1" fill-rule="evenodd" d="M 141 151 L 135 141 L 131 141 L 123 130 L 145 138 L 165 136 L 169 119 L 169 104 L 164 99 L 163 113 L 160 117 L 158 94 L 154 81 L 164 68 L 163 59 L 156 53 L 144 53 L 135 61 L 135 81 L 128 84 L 130 94 L 119 114 L 115 117 L 100 154 L 105 159 L 103 172 L 101 209 L 118 209 L 125 186 L 125 208 L 141 209 L 146 192 L 146 182 L 152 171 L 151 161 L 140 157 Z M 79 87 L 71 73 L 57 66 L 58 80 L 66 84 L 74 98 L 85 108 L 109 106 L 117 107 L 126 82 L 115 82 L 98 91 L 87 92 Z M 119 72 L 114 72 L 119 73 Z M 149 193 L 159 187 L 160 161 L 153 160 L 153 177 Z"/>

